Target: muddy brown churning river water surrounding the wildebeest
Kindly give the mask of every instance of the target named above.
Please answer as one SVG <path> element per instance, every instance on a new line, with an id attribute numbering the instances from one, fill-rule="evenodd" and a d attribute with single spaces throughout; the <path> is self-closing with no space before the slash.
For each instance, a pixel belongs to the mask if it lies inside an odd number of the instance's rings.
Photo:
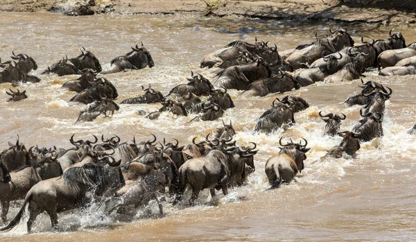
<path id="1" fill-rule="evenodd" d="M 130 211 L 128 215 L 112 213 L 92 205 L 82 211 L 75 209 L 58 214 L 58 232 L 51 232 L 47 214 L 37 217 L 33 234 L 26 235 L 26 221 L 0 234 L 1 241 L 411 241 L 416 240 L 416 155 L 415 136 L 407 131 L 416 123 L 416 78 L 410 76 L 379 76 L 377 69 L 367 69 L 363 81 L 374 80 L 393 93 L 385 101 L 383 137 L 361 142 L 361 149 L 353 159 L 320 158 L 342 137 L 323 136 L 326 123 L 318 114 L 345 114 L 340 130 L 352 130 L 361 118 L 362 106 L 347 106 L 348 96 L 361 92 L 360 80 L 315 83 L 307 87 L 268 96 L 239 96 L 243 91 L 229 89 L 234 108 L 215 121 L 191 121 L 196 114 L 177 116 L 162 112 L 158 119 L 142 115 L 159 110 L 160 103 L 123 104 L 113 116 L 98 116 L 94 121 L 77 122 L 82 103 L 69 102 L 75 92 L 60 89 L 67 80 L 78 75 L 57 76 L 41 74 L 57 60 L 80 54 L 80 47 L 92 51 L 103 65 L 114 57 L 130 51 L 130 46 L 143 42 L 151 53 L 155 66 L 139 70 L 101 75 L 112 82 L 118 91 L 116 103 L 144 93 L 141 85 L 162 94 L 176 85 L 187 83 L 191 71 L 209 80 L 214 75 L 200 69 L 207 53 L 222 48 L 233 40 L 254 43 L 254 37 L 275 43 L 278 51 L 309 44 L 315 32 L 329 28 L 347 28 L 356 43 L 361 36 L 375 40 L 388 38 L 390 28 L 401 31 L 406 44 L 416 41 L 415 26 L 374 26 L 372 24 L 339 24 L 333 22 L 306 23 L 244 19 L 240 17 L 202 18 L 187 15 L 98 15 L 94 17 L 64 17 L 51 13 L 1 12 L 0 57 L 9 60 L 12 51 L 30 55 L 39 66 L 33 71 L 40 83 L 25 83 L 28 98 L 6 102 L 10 83 L 0 85 L 0 148 L 7 149 L 8 141 L 31 146 L 71 148 L 74 139 L 94 139 L 92 135 L 113 137 L 121 142 L 135 138 L 137 142 L 152 139 L 180 141 L 191 144 L 193 137 L 205 138 L 222 121 L 236 130 L 234 139 L 242 146 L 257 144 L 254 156 L 255 171 L 241 187 L 229 189 L 227 196 L 218 191 L 211 201 L 209 189 L 200 192 L 195 206 L 187 201 L 172 205 L 170 198 L 162 200 L 164 216 L 157 214 L 156 202 L 148 208 Z M 272 46 L 272 44 L 269 44 Z M 107 65 L 105 65 L 107 64 Z M 270 134 L 253 132 L 259 116 L 270 108 L 276 97 L 300 96 L 309 103 L 306 110 L 296 112 L 295 125 L 277 129 Z M 191 121 L 191 122 L 189 122 Z M 266 161 L 279 153 L 280 137 L 294 141 L 304 138 L 308 148 L 304 169 L 295 182 L 279 189 L 270 187 L 265 174 Z M 287 140 L 286 140 L 287 141 Z M 1 195 L 0 195 L 1 196 Z M 10 205 L 8 221 L 22 202 Z M 156 212 L 155 212 L 156 211 Z M 0 222 L 1 223 L 1 222 Z M 1 225 L 3 227 L 3 225 Z"/>

